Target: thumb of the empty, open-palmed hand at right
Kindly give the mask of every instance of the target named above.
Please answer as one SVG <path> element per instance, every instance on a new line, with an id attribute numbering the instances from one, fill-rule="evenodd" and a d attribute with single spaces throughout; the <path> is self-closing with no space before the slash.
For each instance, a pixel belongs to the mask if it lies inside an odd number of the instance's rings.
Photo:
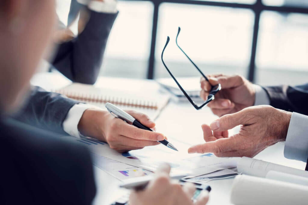
<path id="1" fill-rule="evenodd" d="M 225 131 L 236 127 L 237 125 L 247 124 L 244 118 L 246 111 L 242 110 L 233 114 L 224 115 L 210 124 L 210 128 L 215 131 Z"/>

